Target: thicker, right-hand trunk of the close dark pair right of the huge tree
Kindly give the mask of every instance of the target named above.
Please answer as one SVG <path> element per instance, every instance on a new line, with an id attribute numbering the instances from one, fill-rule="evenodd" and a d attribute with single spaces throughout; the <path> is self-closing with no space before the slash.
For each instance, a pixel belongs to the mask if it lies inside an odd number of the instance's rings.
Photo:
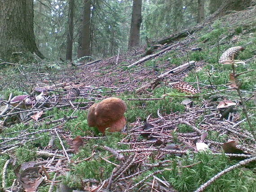
<path id="1" fill-rule="evenodd" d="M 84 0 L 83 21 L 81 29 L 81 42 L 78 49 L 78 58 L 90 56 L 90 20 L 91 0 Z"/>

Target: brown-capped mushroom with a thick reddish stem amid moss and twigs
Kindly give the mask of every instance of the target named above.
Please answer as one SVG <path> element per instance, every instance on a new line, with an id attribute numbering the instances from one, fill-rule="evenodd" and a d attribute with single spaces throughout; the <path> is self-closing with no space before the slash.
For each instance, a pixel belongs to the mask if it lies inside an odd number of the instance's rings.
<path id="1" fill-rule="evenodd" d="M 108 127 L 110 132 L 122 131 L 126 123 L 125 110 L 126 105 L 123 100 L 116 97 L 104 99 L 89 108 L 88 126 L 97 127 L 101 133 L 104 133 Z"/>

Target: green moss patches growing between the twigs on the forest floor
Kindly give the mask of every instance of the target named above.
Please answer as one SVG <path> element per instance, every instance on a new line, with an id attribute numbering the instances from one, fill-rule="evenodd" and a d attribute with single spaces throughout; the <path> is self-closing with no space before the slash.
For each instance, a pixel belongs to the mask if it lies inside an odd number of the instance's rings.
<path id="1" fill-rule="evenodd" d="M 181 65 L 181 63 L 186 62 L 188 59 L 199 61 L 201 63 L 201 70 L 190 70 L 190 72 L 186 73 L 184 77 L 184 81 L 186 82 L 199 82 L 199 88 L 202 89 L 201 92 L 211 92 L 212 89 L 221 90 L 225 88 L 225 84 L 229 81 L 229 74 L 231 71 L 231 66 L 229 65 L 221 65 L 218 63 L 218 57 L 220 57 L 221 53 L 224 52 L 227 48 L 245 45 L 245 50 L 239 52 L 238 59 L 246 61 L 245 65 L 239 65 L 236 67 L 236 71 L 238 73 L 254 69 L 247 74 L 243 74 L 239 76 L 242 85 L 241 89 L 243 90 L 243 97 L 249 98 L 252 96 L 252 92 L 255 89 L 256 79 L 256 29 L 253 26 L 253 23 L 247 23 L 251 27 L 250 30 L 247 30 L 248 26 L 243 27 L 242 24 L 236 23 L 234 26 L 230 26 L 222 20 L 218 20 L 214 22 L 212 25 L 207 25 L 203 28 L 202 31 L 198 31 L 194 36 L 194 40 L 191 41 L 190 44 L 187 44 L 187 49 L 184 53 L 180 50 L 170 51 L 162 55 L 161 57 L 154 58 L 150 61 L 146 61 L 140 66 L 134 66 L 132 69 L 128 69 L 124 67 L 125 62 L 122 62 L 121 66 L 118 66 L 117 69 L 126 72 L 127 74 L 136 73 L 138 70 L 142 68 L 147 68 L 157 70 L 158 74 L 161 74 L 168 70 L 168 68 L 172 65 Z M 234 35 L 238 35 L 238 41 L 232 42 L 230 39 Z M 250 43 L 250 44 L 249 44 Z M 201 47 L 202 51 L 190 51 L 191 47 Z M 164 65 L 165 63 L 168 65 Z M 33 73 L 35 71 L 44 71 L 44 74 L 48 73 L 48 77 L 55 75 L 58 77 L 56 79 L 65 79 L 63 77 L 63 68 L 66 67 L 66 64 L 61 63 L 50 63 L 46 62 L 39 66 L 32 67 L 31 64 L 22 64 L 22 66 L 0 66 L 0 89 L 1 95 L 3 95 L 4 99 L 8 99 L 10 92 L 13 95 L 19 95 L 24 93 L 29 93 L 31 88 L 35 86 L 35 81 L 31 81 L 27 79 L 26 75 L 23 75 L 19 71 L 25 71 L 26 74 Z M 50 67 L 49 67 L 50 66 Z M 104 77 L 105 79 L 111 79 L 115 75 L 119 75 L 119 73 L 108 73 L 106 70 L 113 70 L 115 67 L 112 65 L 108 65 L 99 70 L 96 74 L 99 78 Z M 196 68 L 195 68 L 196 69 Z M 72 69 L 75 73 L 79 73 L 81 69 Z M 150 70 L 151 71 L 151 70 Z M 17 75 L 19 74 L 19 75 Z M 49 75 L 50 74 L 50 75 Z M 32 79 L 37 79 L 36 83 L 43 81 L 45 75 L 37 74 L 37 76 L 30 76 Z M 69 77 L 70 78 L 70 77 Z M 130 76 L 130 81 L 135 78 Z M 48 79 L 50 80 L 50 79 Z M 120 79 L 113 79 L 113 85 L 120 85 Z M 18 85 L 16 82 L 19 82 Z M 28 83 L 30 82 L 30 83 Z M 137 83 L 137 86 L 140 87 L 141 83 Z M 137 87 L 137 88 L 138 88 Z M 97 86 L 95 86 L 97 88 Z M 60 89 L 59 91 L 61 91 Z M 124 100 L 127 104 L 127 111 L 125 113 L 125 118 L 128 122 L 128 130 L 132 128 L 132 125 L 140 119 L 143 120 L 147 116 L 150 115 L 150 118 L 158 118 L 157 111 L 161 112 L 164 116 L 170 113 L 183 113 L 185 110 L 185 106 L 181 105 L 182 97 L 170 98 L 166 96 L 161 100 L 128 100 L 128 99 L 136 99 L 138 96 L 135 95 L 135 91 L 127 90 L 121 92 L 112 92 L 112 87 L 104 87 L 93 89 L 93 92 L 90 94 L 101 94 L 101 96 L 116 96 Z M 166 86 L 164 83 L 160 84 L 153 91 L 150 91 L 149 94 L 141 95 L 140 98 L 161 98 L 165 93 L 175 92 L 172 88 Z M 238 99 L 238 95 L 236 92 L 224 92 L 221 93 L 223 96 L 226 96 L 230 100 Z M 199 99 L 194 100 L 195 106 L 200 106 L 207 99 L 200 97 Z M 97 97 L 84 98 L 84 99 L 76 99 L 74 102 L 86 102 L 86 101 L 97 101 Z M 82 106 L 82 105 L 81 105 Z M 255 104 L 253 100 L 246 100 L 246 106 L 248 113 L 255 114 Z M 83 106 L 82 106 L 83 107 Z M 35 132 L 38 130 L 50 129 L 56 126 L 58 123 L 46 124 L 45 122 L 49 122 L 49 120 L 53 121 L 63 116 L 70 116 L 74 112 L 74 109 L 70 107 L 66 108 L 53 108 L 51 110 L 46 110 L 42 117 L 45 118 L 41 122 L 28 122 L 22 123 L 18 121 L 16 116 L 12 116 L 7 120 L 7 126 L 3 128 L 1 133 L 0 141 L 3 142 L 8 140 L 6 138 L 14 138 L 20 135 L 22 132 Z M 61 132 L 63 135 L 71 134 L 74 138 L 76 135 L 81 136 L 93 136 L 93 128 L 88 127 L 86 121 L 86 113 L 87 111 L 78 109 L 75 110 L 73 115 L 77 115 L 77 118 L 71 119 L 67 121 L 62 127 Z M 205 111 L 207 113 L 207 111 Z M 239 119 L 243 119 L 244 114 L 242 113 L 241 107 L 237 108 L 237 113 Z M 251 118 L 253 127 L 256 125 L 256 119 L 252 116 Z M 197 120 L 200 122 L 200 119 Z M 197 122 L 197 123 L 198 123 Z M 244 130 L 249 130 L 246 122 L 240 125 L 240 128 Z M 178 125 L 177 132 L 191 132 L 190 126 L 185 124 Z M 174 132 L 173 135 L 177 133 Z M 228 133 L 224 135 L 218 135 L 218 132 L 208 131 L 208 139 L 216 142 L 225 142 L 229 139 Z M 35 133 L 33 137 L 38 138 L 32 141 L 26 141 L 21 145 L 18 145 L 12 151 L 8 153 L 1 153 L 0 155 L 0 170 L 3 170 L 4 163 L 10 159 L 14 158 L 14 165 L 9 165 L 6 170 L 5 175 L 5 183 L 6 186 L 9 187 L 13 183 L 13 179 L 15 179 L 15 175 L 13 173 L 13 167 L 17 167 L 22 162 L 26 161 L 43 161 L 46 160 L 46 157 L 40 157 L 37 155 L 36 151 L 43 150 L 49 143 L 51 133 L 49 131 L 45 131 L 43 133 Z M 31 137 L 28 136 L 28 137 Z M 4 139 L 5 138 L 5 139 Z M 107 133 L 104 137 L 99 137 L 97 139 L 88 139 L 85 141 L 84 147 L 80 148 L 77 154 L 71 154 L 72 162 L 70 164 L 66 164 L 65 174 L 59 174 L 56 180 L 59 180 L 62 183 L 66 183 L 68 186 L 72 188 L 80 188 L 83 189 L 85 186 L 81 180 L 83 179 L 96 179 L 98 182 L 102 182 L 104 179 L 110 177 L 112 170 L 115 165 L 110 164 L 104 160 L 107 159 L 113 163 L 119 164 L 118 160 L 115 160 L 115 157 L 110 156 L 110 153 L 106 150 L 103 150 L 101 146 L 108 146 L 113 149 L 129 149 L 130 145 L 127 144 L 118 144 L 118 142 L 124 138 L 124 135 L 120 133 Z M 239 144 L 243 144 L 246 142 L 245 140 L 238 140 Z M 65 148 L 69 148 L 69 145 L 66 144 L 66 141 L 63 140 Z M 175 137 L 173 142 L 177 142 Z M 15 140 L 9 142 L 9 144 L 14 144 Z M 4 145 L 4 144 L 2 144 Z M 62 146 L 59 143 L 59 140 L 55 140 L 54 142 L 54 150 L 62 150 Z M 92 155 L 93 154 L 93 155 Z M 128 154 L 126 154 L 128 155 Z M 90 157 L 92 156 L 92 157 Z M 90 157 L 90 158 L 88 158 Z M 103 157 L 103 158 L 102 158 Z M 88 158 L 86 161 L 83 159 Z M 201 184 L 205 183 L 208 179 L 212 178 L 221 170 L 234 165 L 237 161 L 231 161 L 230 158 L 226 157 L 223 153 L 216 155 L 211 152 L 200 152 L 193 153 L 188 152 L 188 154 L 182 157 L 174 157 L 172 155 L 168 155 L 169 162 L 168 166 L 162 167 L 154 167 L 151 170 L 148 170 L 141 175 L 135 176 L 132 178 L 132 182 L 137 183 L 150 173 L 153 173 L 155 170 L 164 170 L 161 174 L 157 174 L 160 179 L 166 179 L 176 190 L 181 192 L 190 192 L 197 189 Z M 154 160 L 150 156 L 147 157 L 147 161 L 150 163 L 157 163 L 159 160 Z M 189 167 L 182 167 L 187 165 L 193 165 Z M 213 191 L 222 191 L 222 192 L 232 192 L 232 191 L 243 191 L 243 192 L 252 192 L 256 191 L 256 174 L 255 174 L 255 166 L 249 167 L 240 167 L 234 170 L 229 171 L 225 175 L 221 176 L 214 183 L 206 188 L 205 191 L 213 192 Z M 2 172 L 1 172 L 2 174 Z M 49 172 L 50 179 L 53 179 L 54 172 Z M 2 182 L 2 177 L 0 177 L 0 182 Z M 148 181 L 151 178 L 148 179 Z M 54 186 L 56 189 L 56 186 Z M 38 188 L 39 192 L 46 192 L 49 190 L 49 183 L 44 183 L 40 185 Z M 136 191 L 136 190 L 135 190 Z"/>

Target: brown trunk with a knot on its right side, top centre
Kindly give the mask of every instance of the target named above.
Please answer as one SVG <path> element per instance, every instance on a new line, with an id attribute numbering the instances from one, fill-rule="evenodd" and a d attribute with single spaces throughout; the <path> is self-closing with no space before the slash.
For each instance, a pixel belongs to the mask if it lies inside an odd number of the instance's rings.
<path id="1" fill-rule="evenodd" d="M 142 22 L 141 4 L 142 4 L 142 0 L 133 0 L 131 31 L 130 31 L 128 49 L 134 46 L 137 46 L 140 43 L 140 27 Z"/>

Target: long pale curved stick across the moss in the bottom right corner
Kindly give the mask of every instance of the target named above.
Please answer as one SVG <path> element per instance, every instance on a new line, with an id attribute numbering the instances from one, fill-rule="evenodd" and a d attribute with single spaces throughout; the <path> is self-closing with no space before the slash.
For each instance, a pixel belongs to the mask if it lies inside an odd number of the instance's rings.
<path id="1" fill-rule="evenodd" d="M 215 181 L 216 179 L 218 179 L 221 175 L 225 174 L 226 172 L 233 170 L 234 168 L 238 167 L 238 166 L 242 166 L 245 165 L 251 161 L 255 161 L 256 157 L 252 157 L 250 159 L 245 159 L 243 161 L 238 162 L 237 164 L 235 164 L 234 166 L 230 166 L 229 168 L 221 171 L 220 173 L 218 173 L 217 175 L 215 175 L 214 177 L 212 177 L 211 179 L 209 179 L 206 183 L 204 183 L 203 185 L 201 185 L 196 191 L 194 192 L 202 192 L 207 186 L 209 186 L 213 181 Z"/>

